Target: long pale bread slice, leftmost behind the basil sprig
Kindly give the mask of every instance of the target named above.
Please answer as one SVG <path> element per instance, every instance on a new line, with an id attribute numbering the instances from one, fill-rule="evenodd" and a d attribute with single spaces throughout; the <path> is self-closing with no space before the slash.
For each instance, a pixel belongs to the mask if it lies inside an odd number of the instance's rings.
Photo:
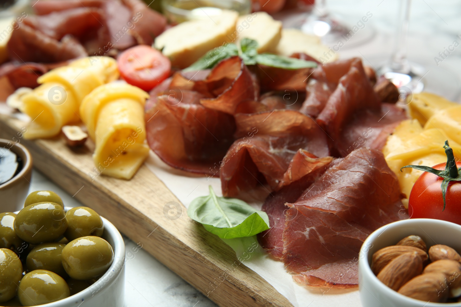
<path id="1" fill-rule="evenodd" d="M 189 67 L 209 50 L 232 41 L 237 18 L 237 12 L 223 10 L 219 15 L 180 23 L 160 34 L 154 46 L 170 58 L 172 66 Z"/>

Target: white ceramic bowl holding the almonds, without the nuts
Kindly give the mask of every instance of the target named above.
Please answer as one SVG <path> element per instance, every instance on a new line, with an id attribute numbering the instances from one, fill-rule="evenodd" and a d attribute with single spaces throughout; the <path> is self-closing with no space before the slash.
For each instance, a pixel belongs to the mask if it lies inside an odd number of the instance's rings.
<path id="1" fill-rule="evenodd" d="M 373 274 L 370 267 L 373 253 L 410 235 L 420 236 L 428 249 L 435 244 L 445 244 L 461 251 L 461 226 L 458 224 L 444 220 L 410 219 L 384 225 L 366 238 L 360 250 L 359 290 L 363 307 L 461 307 L 461 303 L 430 303 L 401 295 Z"/>

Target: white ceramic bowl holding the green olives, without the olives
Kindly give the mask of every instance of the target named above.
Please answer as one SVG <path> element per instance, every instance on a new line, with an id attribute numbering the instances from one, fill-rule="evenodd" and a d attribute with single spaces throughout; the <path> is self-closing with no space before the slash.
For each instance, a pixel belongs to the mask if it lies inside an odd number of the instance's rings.
<path id="1" fill-rule="evenodd" d="M 111 244 L 114 260 L 107 272 L 94 284 L 64 300 L 40 305 L 40 307 L 123 307 L 125 285 L 125 243 L 120 232 L 111 222 L 102 218 L 102 238 Z"/>

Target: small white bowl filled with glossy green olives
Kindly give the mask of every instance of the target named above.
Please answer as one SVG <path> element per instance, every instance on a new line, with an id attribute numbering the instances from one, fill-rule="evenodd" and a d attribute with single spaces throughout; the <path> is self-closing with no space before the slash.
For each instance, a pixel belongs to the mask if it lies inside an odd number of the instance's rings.
<path id="1" fill-rule="evenodd" d="M 124 262 L 112 223 L 52 191 L 0 214 L 0 306 L 123 307 Z"/>

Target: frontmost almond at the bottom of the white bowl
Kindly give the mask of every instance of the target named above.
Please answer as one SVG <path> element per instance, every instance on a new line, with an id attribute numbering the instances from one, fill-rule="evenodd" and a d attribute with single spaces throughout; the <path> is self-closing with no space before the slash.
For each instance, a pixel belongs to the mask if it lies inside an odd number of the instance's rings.
<path id="1" fill-rule="evenodd" d="M 445 285 L 445 274 L 426 273 L 411 279 L 398 291 L 408 297 L 432 302 L 443 302 L 447 299 L 449 291 Z"/>

